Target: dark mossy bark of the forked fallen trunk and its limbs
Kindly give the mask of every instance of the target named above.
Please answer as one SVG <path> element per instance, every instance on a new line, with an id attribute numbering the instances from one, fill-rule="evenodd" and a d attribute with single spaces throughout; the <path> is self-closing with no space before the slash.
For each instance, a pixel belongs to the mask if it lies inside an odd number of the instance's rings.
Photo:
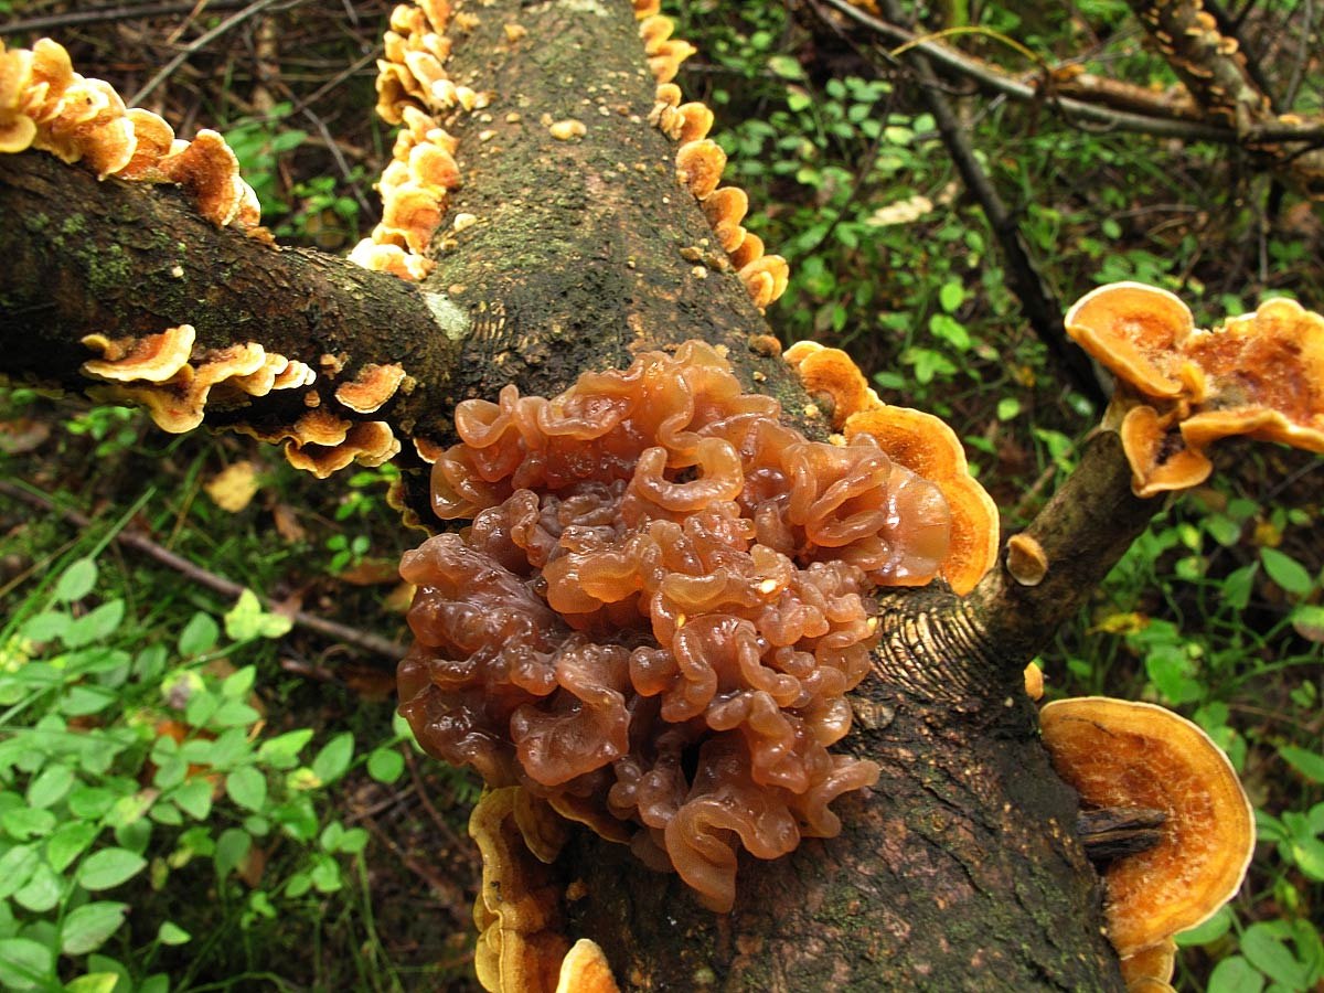
<path id="1" fill-rule="evenodd" d="M 15 218 L 0 229 L 0 368 L 81 389 L 83 335 L 189 322 L 213 347 L 257 340 L 312 365 L 343 355 L 350 371 L 401 361 L 417 388 L 372 417 L 442 442 L 465 397 L 506 383 L 553 392 L 636 350 L 704 338 L 727 346 L 748 387 L 804 412 L 784 364 L 755 347 L 768 328 L 739 278 L 682 253 L 715 242 L 675 183 L 674 147 L 646 124 L 654 85 L 630 5 L 477 11 L 448 68 L 494 94 L 486 117 L 455 128 L 465 187 L 450 209 L 478 224 L 444 225 L 428 281 L 275 252 L 211 228 L 172 191 L 0 156 L 0 207 Z M 515 21 L 527 36 L 510 42 Z M 565 118 L 585 123 L 583 140 L 551 136 Z M 282 422 L 281 404 L 306 402 L 267 397 L 208 420 Z M 409 445 L 401 462 L 425 511 L 425 466 Z M 1121 989 L 1075 798 L 1038 741 L 1021 671 L 1151 512 L 1102 436 L 1031 526 L 1050 561 L 1039 587 L 997 568 L 967 598 L 879 598 L 884 639 L 843 744 L 883 773 L 837 802 L 841 837 L 743 859 L 736 908 L 716 916 L 675 876 L 579 834 L 557 863 L 567 886 L 587 884 L 567 903 L 569 936 L 597 939 L 629 989 Z"/>

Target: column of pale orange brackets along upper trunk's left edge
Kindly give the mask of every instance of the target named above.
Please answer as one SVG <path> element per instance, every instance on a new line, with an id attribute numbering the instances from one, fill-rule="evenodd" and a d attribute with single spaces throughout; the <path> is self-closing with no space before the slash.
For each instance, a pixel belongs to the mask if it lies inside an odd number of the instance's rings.
<path id="1" fill-rule="evenodd" d="M 433 269 L 424 253 L 459 187 L 458 142 L 445 117 L 486 103 L 486 95 L 457 85 L 446 73 L 451 21 L 449 0 L 400 4 L 377 60 L 377 114 L 404 124 L 391 164 L 381 173 L 381 222 L 350 253 L 350 261 L 401 279 L 422 279 Z"/>

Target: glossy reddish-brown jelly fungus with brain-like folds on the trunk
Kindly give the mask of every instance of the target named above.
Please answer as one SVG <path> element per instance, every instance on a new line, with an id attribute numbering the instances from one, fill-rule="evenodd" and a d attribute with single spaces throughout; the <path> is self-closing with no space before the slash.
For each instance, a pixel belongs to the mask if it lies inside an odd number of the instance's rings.
<path id="1" fill-rule="evenodd" d="M 875 585 L 929 581 L 940 487 L 871 437 L 808 441 L 690 342 L 555 399 L 470 400 L 433 506 L 473 518 L 405 555 L 401 712 L 432 753 L 629 841 L 715 910 L 736 853 L 830 837 L 873 784 L 833 755 Z"/>

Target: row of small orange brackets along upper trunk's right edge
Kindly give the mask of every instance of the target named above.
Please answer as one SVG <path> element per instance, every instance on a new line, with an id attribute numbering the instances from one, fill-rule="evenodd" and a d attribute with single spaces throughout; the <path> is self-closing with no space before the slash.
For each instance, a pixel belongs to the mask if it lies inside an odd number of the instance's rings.
<path id="1" fill-rule="evenodd" d="M 677 181 L 699 201 L 749 298 L 764 310 L 786 291 L 790 269 L 781 256 L 764 254 L 763 241 L 741 225 L 749 212 L 745 192 L 719 185 L 727 156 L 708 138 L 712 111 L 698 101 L 682 103 L 681 87 L 671 82 L 681 62 L 695 49 L 671 37 L 671 19 L 658 13 L 655 1 L 636 0 L 634 16 L 639 20 L 639 38 L 658 85 L 649 123 L 681 143 L 675 154 Z"/>

